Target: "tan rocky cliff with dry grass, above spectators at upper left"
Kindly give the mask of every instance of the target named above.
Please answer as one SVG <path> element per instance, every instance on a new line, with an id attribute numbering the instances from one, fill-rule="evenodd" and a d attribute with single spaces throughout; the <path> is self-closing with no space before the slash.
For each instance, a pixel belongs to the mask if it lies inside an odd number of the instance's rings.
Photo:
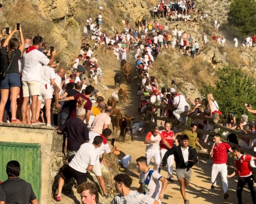
<path id="1" fill-rule="evenodd" d="M 79 3 L 80 0 L 5 0 L 0 18 L 11 29 L 16 22 L 21 23 L 26 38 L 41 35 L 47 48 L 57 49 L 57 60 L 67 68 L 80 50 L 81 31 L 73 18 Z"/>

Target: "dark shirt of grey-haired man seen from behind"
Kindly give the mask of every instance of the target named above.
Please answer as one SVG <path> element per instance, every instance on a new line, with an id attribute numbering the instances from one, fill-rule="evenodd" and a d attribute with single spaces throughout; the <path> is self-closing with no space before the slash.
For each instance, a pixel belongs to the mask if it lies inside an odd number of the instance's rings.
<path id="1" fill-rule="evenodd" d="M 78 151 L 80 146 L 86 141 L 89 140 L 89 131 L 80 118 L 71 118 L 66 120 L 66 122 L 60 127 L 61 132 L 67 132 L 68 135 L 68 144 L 67 150 L 69 151 Z"/>

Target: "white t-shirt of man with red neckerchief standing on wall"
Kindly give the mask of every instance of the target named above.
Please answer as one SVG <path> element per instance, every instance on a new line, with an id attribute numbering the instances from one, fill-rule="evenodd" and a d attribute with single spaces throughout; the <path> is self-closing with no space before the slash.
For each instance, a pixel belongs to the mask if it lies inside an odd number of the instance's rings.
<path id="1" fill-rule="evenodd" d="M 22 81 L 41 81 L 42 64 L 49 64 L 50 60 L 39 50 L 34 49 L 23 54 Z"/>

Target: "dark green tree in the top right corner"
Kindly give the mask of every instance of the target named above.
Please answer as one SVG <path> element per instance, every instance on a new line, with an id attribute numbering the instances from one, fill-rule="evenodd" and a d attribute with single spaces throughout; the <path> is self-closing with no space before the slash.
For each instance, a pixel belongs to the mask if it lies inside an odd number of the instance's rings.
<path id="1" fill-rule="evenodd" d="M 241 36 L 256 32 L 255 0 L 232 0 L 228 12 L 228 26 Z"/>

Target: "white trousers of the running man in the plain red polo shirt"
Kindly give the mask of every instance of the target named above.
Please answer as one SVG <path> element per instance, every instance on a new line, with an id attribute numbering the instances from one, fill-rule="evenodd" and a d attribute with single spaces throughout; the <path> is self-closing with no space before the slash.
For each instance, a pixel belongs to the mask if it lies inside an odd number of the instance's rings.
<path id="1" fill-rule="evenodd" d="M 211 182 L 212 182 L 213 186 L 216 185 L 216 178 L 219 173 L 221 175 L 223 191 L 224 191 L 224 193 L 227 193 L 227 190 L 228 190 L 227 164 L 212 164 Z"/>

